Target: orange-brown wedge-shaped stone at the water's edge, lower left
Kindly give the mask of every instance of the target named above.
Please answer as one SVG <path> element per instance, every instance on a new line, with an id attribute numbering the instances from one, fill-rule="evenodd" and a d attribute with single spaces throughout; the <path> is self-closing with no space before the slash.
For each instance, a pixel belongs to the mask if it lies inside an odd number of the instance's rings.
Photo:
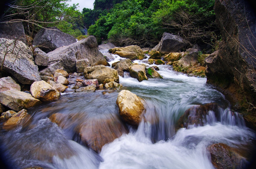
<path id="1" fill-rule="evenodd" d="M 30 115 L 27 113 L 26 109 L 20 110 L 18 113 L 10 117 L 7 122 L 3 124 L 4 130 L 12 130 L 21 125 L 29 122 Z"/>

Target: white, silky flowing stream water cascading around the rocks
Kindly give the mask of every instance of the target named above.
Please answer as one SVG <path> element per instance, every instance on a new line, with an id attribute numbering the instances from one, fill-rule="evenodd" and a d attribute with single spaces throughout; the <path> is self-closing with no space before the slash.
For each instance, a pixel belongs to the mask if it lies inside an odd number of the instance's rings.
<path id="1" fill-rule="evenodd" d="M 110 64 L 118 58 L 112 56 Z M 207 152 L 212 144 L 224 143 L 252 155 L 255 132 L 229 109 L 222 93 L 206 84 L 206 78 L 188 77 L 168 65 L 159 68 L 163 79 L 138 82 L 128 73 L 120 77 L 122 89 L 144 100 L 145 118 L 137 129 L 128 126 L 128 133 L 104 145 L 99 154 L 82 146 L 75 128 L 98 119 L 121 123 L 116 105 L 120 91 L 68 92 L 57 101 L 29 109 L 29 126 L 1 132 L 3 161 L 15 169 L 214 169 Z M 220 115 L 210 111 L 204 126 L 176 128 L 186 109 L 207 103 L 218 104 Z M 60 128 L 48 119 L 54 113 L 79 118 Z"/>

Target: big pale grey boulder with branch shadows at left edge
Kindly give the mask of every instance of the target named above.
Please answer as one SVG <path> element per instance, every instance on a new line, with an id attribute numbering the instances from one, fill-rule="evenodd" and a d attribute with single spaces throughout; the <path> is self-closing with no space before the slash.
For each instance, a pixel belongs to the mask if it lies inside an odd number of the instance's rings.
<path id="1" fill-rule="evenodd" d="M 0 63 L 3 70 L 12 74 L 22 84 L 41 80 L 32 51 L 22 41 L 0 38 Z"/>

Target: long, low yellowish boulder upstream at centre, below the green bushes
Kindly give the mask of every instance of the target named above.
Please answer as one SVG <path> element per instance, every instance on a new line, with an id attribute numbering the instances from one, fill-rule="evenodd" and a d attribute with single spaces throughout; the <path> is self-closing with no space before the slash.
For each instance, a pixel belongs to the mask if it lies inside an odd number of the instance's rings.
<path id="1" fill-rule="evenodd" d="M 125 47 L 115 47 L 109 50 L 112 54 L 118 54 L 120 57 L 130 60 L 137 60 L 144 58 L 143 50 L 140 46 L 131 45 Z"/>

